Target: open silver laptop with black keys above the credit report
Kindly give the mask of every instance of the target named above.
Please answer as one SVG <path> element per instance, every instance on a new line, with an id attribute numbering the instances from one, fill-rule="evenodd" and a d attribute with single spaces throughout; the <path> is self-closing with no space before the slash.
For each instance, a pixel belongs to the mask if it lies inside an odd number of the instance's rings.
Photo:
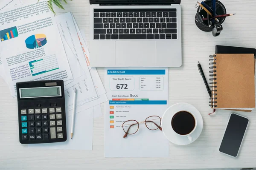
<path id="1" fill-rule="evenodd" d="M 180 67 L 180 0 L 90 0 L 92 67 Z"/>

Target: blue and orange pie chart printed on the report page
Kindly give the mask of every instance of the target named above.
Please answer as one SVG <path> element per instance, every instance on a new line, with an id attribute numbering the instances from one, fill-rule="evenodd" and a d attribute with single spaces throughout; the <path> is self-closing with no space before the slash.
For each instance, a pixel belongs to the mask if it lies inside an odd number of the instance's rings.
<path id="1" fill-rule="evenodd" d="M 30 37 L 28 37 L 25 40 L 26 48 L 34 49 L 34 48 L 40 48 L 47 43 L 47 38 L 45 34 L 35 34 Z"/>

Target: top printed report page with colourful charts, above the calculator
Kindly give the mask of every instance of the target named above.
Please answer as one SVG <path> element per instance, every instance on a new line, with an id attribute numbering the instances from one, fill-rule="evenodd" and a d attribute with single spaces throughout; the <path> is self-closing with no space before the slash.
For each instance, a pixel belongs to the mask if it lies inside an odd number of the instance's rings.
<path id="1" fill-rule="evenodd" d="M 47 1 L 0 11 L 0 56 L 12 96 L 16 82 L 73 79 Z"/>

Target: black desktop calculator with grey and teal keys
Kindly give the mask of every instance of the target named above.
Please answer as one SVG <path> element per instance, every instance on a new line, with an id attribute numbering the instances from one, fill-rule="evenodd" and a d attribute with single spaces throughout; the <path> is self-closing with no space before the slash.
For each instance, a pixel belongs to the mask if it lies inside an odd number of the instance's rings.
<path id="1" fill-rule="evenodd" d="M 21 144 L 67 140 L 63 80 L 17 82 Z"/>

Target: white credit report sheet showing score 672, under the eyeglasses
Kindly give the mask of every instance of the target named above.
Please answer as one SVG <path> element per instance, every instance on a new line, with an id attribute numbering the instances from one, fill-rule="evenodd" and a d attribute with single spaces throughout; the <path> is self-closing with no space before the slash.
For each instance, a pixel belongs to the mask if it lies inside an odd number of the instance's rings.
<path id="1" fill-rule="evenodd" d="M 123 138 L 123 122 L 163 116 L 169 105 L 168 68 L 106 68 L 105 157 L 168 157 L 169 141 L 145 123 Z"/>

